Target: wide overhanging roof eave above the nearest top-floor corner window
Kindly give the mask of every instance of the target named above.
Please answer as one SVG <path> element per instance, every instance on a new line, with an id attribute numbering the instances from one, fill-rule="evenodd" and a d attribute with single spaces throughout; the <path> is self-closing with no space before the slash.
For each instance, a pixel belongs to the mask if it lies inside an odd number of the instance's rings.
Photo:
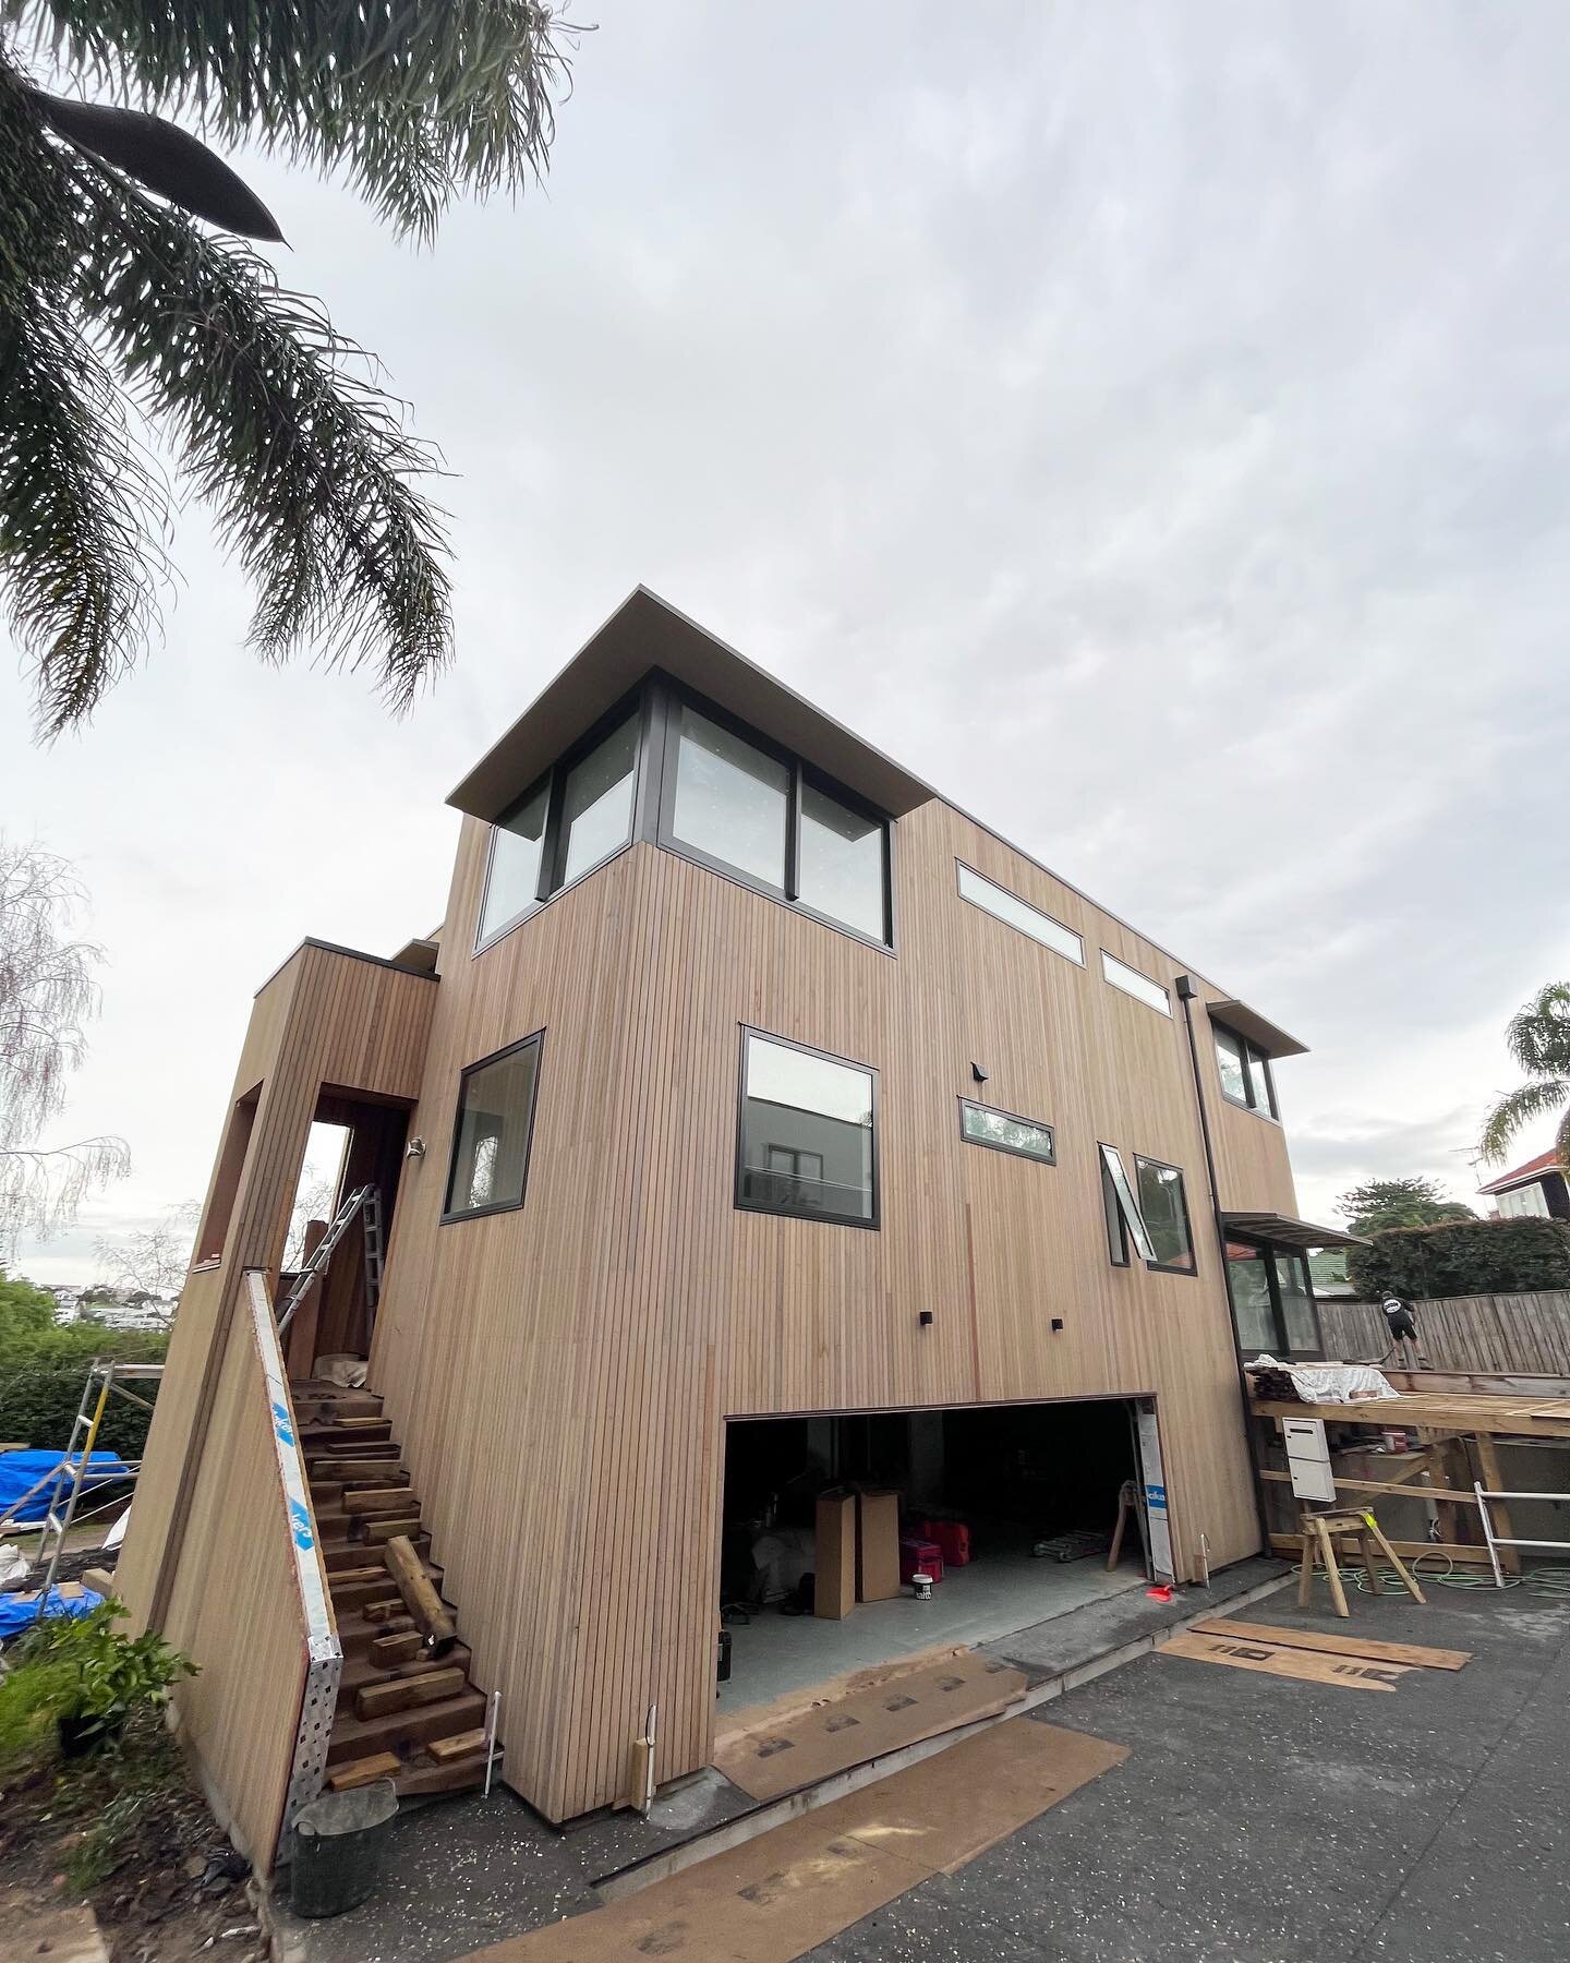
<path id="1" fill-rule="evenodd" d="M 652 667 L 685 681 L 893 817 L 936 797 L 920 777 L 814 709 L 805 695 L 775 681 L 657 593 L 636 587 L 500 742 L 487 750 L 447 803 L 471 819 L 493 822 Z"/>

